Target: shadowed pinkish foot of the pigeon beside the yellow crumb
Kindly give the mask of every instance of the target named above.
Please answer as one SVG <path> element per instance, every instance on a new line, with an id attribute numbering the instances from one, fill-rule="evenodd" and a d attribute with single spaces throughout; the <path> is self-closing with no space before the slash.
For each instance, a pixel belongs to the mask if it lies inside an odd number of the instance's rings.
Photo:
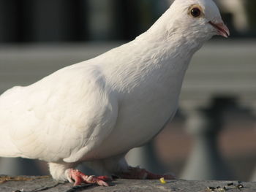
<path id="1" fill-rule="evenodd" d="M 132 167 L 129 166 L 127 171 L 121 172 L 118 174 L 123 179 L 135 179 L 135 180 L 159 180 L 160 178 L 164 177 L 165 180 L 175 180 L 172 174 L 154 174 L 148 172 L 146 169 L 141 169 L 139 167 Z"/>

